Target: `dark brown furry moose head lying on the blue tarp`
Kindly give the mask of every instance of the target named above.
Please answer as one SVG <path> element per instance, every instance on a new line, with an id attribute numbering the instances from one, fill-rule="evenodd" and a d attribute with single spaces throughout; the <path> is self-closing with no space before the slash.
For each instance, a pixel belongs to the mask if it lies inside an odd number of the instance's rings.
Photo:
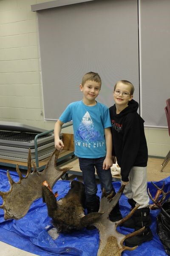
<path id="1" fill-rule="evenodd" d="M 59 201 L 56 201 L 55 195 L 48 187 L 42 186 L 42 199 L 58 232 L 70 233 L 79 230 L 96 221 L 102 214 L 99 212 L 84 214 L 85 186 L 77 180 L 71 182 L 71 189 Z"/>

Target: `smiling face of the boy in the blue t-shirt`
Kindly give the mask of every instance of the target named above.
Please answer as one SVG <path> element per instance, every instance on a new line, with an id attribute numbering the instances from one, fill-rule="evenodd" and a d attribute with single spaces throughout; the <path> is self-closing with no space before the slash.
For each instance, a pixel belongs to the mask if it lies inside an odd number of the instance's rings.
<path id="1" fill-rule="evenodd" d="M 100 87 L 98 82 L 91 80 L 86 81 L 83 86 L 80 84 L 80 90 L 83 92 L 83 99 L 87 102 L 94 102 L 99 95 Z"/>

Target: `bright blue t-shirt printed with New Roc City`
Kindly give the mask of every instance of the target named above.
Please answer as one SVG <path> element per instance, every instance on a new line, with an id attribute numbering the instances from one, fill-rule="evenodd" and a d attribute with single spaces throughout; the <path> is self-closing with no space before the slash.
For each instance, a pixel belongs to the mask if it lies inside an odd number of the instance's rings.
<path id="1" fill-rule="evenodd" d="M 108 107 L 96 102 L 86 106 L 82 101 L 68 105 L 59 120 L 73 121 L 74 154 L 83 158 L 99 158 L 106 155 L 105 128 L 111 127 Z"/>

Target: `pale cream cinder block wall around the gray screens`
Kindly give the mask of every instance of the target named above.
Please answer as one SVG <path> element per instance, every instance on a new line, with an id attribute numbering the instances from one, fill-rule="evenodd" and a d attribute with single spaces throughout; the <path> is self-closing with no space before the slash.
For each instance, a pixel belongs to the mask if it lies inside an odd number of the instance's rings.
<path id="1" fill-rule="evenodd" d="M 0 0 L 0 121 L 21 122 L 47 130 L 44 121 L 36 12 L 31 5 L 48 0 Z M 72 127 L 63 129 L 72 133 Z M 167 130 L 145 129 L 149 155 L 170 149 Z"/>

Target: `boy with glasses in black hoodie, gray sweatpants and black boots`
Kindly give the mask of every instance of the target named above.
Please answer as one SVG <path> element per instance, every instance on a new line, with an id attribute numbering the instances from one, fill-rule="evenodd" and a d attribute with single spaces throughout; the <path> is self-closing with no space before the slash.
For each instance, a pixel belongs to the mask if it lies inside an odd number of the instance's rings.
<path id="1" fill-rule="evenodd" d="M 127 80 L 118 81 L 113 91 L 115 104 L 109 108 L 112 123 L 113 156 L 121 167 L 121 182 L 126 185 L 124 194 L 134 208 L 140 205 L 126 227 L 144 231 L 125 240 L 125 245 L 136 246 L 153 238 L 147 194 L 147 143 L 144 120 L 137 113 L 139 104 L 133 100 L 134 87 Z M 113 158 L 114 158 L 113 157 Z"/>

